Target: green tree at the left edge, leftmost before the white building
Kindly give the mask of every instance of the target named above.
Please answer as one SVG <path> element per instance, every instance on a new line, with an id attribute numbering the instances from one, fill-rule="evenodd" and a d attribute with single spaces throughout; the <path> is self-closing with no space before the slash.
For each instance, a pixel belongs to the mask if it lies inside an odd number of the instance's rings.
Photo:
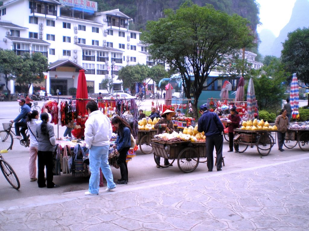
<path id="1" fill-rule="evenodd" d="M 7 84 L 11 79 L 14 79 L 15 64 L 19 63 L 18 58 L 14 51 L 0 49 L 0 72 L 4 74 L 9 100 L 11 100 L 11 91 Z"/>

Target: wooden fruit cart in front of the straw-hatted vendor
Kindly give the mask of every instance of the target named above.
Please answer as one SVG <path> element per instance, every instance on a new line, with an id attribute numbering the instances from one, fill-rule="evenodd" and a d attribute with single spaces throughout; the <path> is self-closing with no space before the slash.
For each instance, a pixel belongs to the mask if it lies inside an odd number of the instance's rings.
<path id="1" fill-rule="evenodd" d="M 200 157 L 206 157 L 205 142 L 169 142 L 152 139 L 151 145 L 154 150 L 156 164 L 162 168 L 166 168 L 173 164 L 173 162 L 177 159 L 178 168 L 184 173 L 194 171 L 200 162 Z M 157 162 L 156 156 L 172 160 L 172 162 L 167 166 L 161 165 Z"/>

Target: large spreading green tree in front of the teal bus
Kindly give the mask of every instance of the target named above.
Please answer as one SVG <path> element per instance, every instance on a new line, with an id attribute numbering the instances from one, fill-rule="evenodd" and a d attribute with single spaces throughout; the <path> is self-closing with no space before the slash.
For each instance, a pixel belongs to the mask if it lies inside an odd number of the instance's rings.
<path id="1" fill-rule="evenodd" d="M 185 2 L 176 13 L 171 9 L 164 13 L 165 18 L 147 22 L 141 40 L 150 44 L 153 59 L 165 60 L 172 70 L 180 73 L 186 95 L 193 90 L 193 113 L 197 118 L 198 98 L 210 71 L 226 56 L 250 47 L 253 36 L 246 19 L 191 1 Z"/>

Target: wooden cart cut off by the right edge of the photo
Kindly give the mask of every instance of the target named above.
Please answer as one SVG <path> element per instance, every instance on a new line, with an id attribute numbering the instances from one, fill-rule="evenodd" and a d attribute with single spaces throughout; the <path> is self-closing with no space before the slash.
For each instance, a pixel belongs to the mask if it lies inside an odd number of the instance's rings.
<path id="1" fill-rule="evenodd" d="M 309 151 L 309 131 L 289 129 L 286 132 L 286 138 L 283 145 L 286 148 L 294 148 L 296 144 L 303 151 Z"/>

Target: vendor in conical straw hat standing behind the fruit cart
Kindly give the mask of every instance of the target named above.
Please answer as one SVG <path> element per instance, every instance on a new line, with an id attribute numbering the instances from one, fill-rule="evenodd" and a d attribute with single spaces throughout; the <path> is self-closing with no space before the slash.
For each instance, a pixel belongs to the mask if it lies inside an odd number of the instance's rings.
<path id="1" fill-rule="evenodd" d="M 161 114 L 161 119 L 154 125 L 155 129 L 157 130 L 157 135 L 162 134 L 164 132 L 171 133 L 175 131 L 174 128 L 174 123 L 171 121 L 171 118 L 176 114 L 175 111 L 171 111 L 169 109 L 166 109 L 162 114 Z M 160 163 L 160 156 L 156 156 L 156 162 Z M 164 166 L 173 166 L 168 162 L 168 159 L 164 159 Z M 157 168 L 160 168 L 160 165 L 157 164 Z"/>

